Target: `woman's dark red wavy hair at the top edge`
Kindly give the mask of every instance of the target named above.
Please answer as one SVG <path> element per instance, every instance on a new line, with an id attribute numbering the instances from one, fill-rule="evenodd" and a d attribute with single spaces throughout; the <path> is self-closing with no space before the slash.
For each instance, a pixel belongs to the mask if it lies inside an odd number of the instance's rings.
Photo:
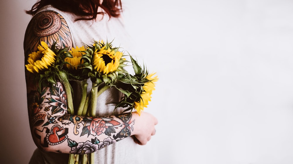
<path id="1" fill-rule="evenodd" d="M 100 4 L 100 0 L 38 0 L 30 10 L 25 12 L 35 15 L 40 8 L 47 5 L 80 16 L 76 20 L 96 19 L 98 14 L 103 14 L 103 12 L 98 12 L 98 7 L 103 8 L 110 17 L 119 17 L 122 11 L 121 0 L 103 0 L 102 4 Z"/>

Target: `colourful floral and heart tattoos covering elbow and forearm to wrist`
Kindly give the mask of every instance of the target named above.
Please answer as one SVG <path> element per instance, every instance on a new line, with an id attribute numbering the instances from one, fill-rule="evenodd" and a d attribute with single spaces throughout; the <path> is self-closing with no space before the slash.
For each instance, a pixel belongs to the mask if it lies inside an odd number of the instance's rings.
<path id="1" fill-rule="evenodd" d="M 30 125 L 40 146 L 54 146 L 67 140 L 70 153 L 92 153 L 129 137 L 133 131 L 135 120 L 130 122 L 131 113 L 98 118 L 81 117 L 68 115 L 66 103 L 66 93 L 60 82 L 54 87 L 28 94 Z M 86 138 L 78 142 L 71 138 L 73 136 Z"/>

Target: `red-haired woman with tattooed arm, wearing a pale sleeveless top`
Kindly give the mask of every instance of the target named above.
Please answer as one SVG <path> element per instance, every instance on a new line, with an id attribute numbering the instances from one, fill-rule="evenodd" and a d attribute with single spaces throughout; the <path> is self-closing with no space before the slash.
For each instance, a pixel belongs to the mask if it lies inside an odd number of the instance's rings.
<path id="1" fill-rule="evenodd" d="M 60 47 L 81 47 L 91 44 L 93 39 L 115 38 L 116 45 L 123 43 L 126 35 L 120 19 L 121 10 L 120 0 L 38 1 L 27 11 L 33 18 L 25 33 L 25 62 L 30 53 L 37 51 L 41 41 L 49 47 L 54 42 Z M 135 112 L 120 114 L 122 111 L 116 110 L 112 115 L 114 106 L 111 103 L 120 100 L 120 92 L 112 88 L 99 96 L 96 113 L 99 117 L 92 118 L 87 135 L 81 135 L 85 125 L 79 121 L 88 118 L 67 114 L 68 93 L 64 91 L 61 82 L 54 87 L 45 87 L 38 91 L 38 86 L 31 80 L 28 71 L 26 82 L 31 133 L 38 146 L 30 163 L 63 164 L 68 163 L 68 153 L 84 154 L 91 151 L 95 151 L 95 163 L 143 163 L 136 156 L 137 144 L 146 144 L 151 135 L 155 134 L 154 125 L 157 120 L 146 112 L 139 116 Z M 89 80 L 88 83 L 90 90 Z M 80 88 L 74 84 L 72 87 L 74 106 L 78 106 Z M 55 110 L 52 110 L 53 108 Z M 107 131 L 110 128 L 105 130 L 105 126 L 112 126 L 112 131 Z M 96 140 L 99 142 L 92 145 Z M 107 146 L 109 144 L 111 145 Z M 80 149 L 81 147 L 88 148 L 88 151 Z"/>

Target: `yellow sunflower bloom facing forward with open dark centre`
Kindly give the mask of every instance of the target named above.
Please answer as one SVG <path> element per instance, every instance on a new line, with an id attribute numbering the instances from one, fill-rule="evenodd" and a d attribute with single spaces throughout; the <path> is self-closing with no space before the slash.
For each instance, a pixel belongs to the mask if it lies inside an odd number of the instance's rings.
<path id="1" fill-rule="evenodd" d="M 109 72 L 114 72 L 119 66 L 119 60 L 122 57 L 122 52 L 103 46 L 100 51 L 95 52 L 93 58 L 94 68 L 103 74 L 108 74 Z"/>

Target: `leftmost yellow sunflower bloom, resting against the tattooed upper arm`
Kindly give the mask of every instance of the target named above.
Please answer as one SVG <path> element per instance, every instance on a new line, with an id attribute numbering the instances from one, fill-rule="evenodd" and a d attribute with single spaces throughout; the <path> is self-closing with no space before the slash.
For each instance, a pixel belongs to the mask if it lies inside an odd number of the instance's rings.
<path id="1" fill-rule="evenodd" d="M 48 69 L 56 60 L 56 54 L 49 49 L 45 42 L 41 42 L 38 50 L 28 55 L 28 64 L 25 65 L 26 69 L 32 73 L 38 73 L 41 70 Z"/>

